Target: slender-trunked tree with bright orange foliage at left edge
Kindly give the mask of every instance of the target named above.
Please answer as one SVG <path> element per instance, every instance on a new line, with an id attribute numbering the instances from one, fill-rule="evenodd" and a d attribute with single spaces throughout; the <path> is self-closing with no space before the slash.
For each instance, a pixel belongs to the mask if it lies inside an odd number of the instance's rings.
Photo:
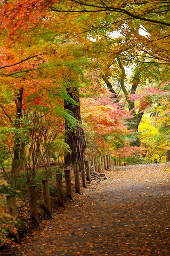
<path id="1" fill-rule="evenodd" d="M 33 55 L 31 57 L 33 58 L 36 57 L 37 59 L 38 55 Z M 12 52 L 9 50 L 9 52 L 7 52 L 6 55 L 4 55 L 2 52 L 2 58 L 1 58 L 1 63 L 2 63 L 1 67 L 3 68 L 1 73 L 1 77 L 2 77 L 1 78 L 1 87 L 2 87 L 1 109 L 2 109 L 2 116 L 3 116 L 4 122 L 6 123 L 7 121 L 10 121 L 11 130 L 6 129 L 6 132 L 10 134 L 11 139 L 13 138 L 12 140 L 14 143 L 13 145 L 12 141 L 9 141 L 9 149 L 11 150 L 13 148 L 13 152 L 14 152 L 14 154 L 12 154 L 10 151 L 10 154 L 13 155 L 12 166 L 13 166 L 14 176 L 19 176 L 19 169 L 21 169 L 21 165 L 23 166 L 23 154 L 24 154 L 23 151 L 25 149 L 25 146 L 28 143 L 27 138 L 24 138 L 23 135 L 24 135 L 24 132 L 26 134 L 29 134 L 29 128 L 27 127 L 28 129 L 26 129 L 26 125 L 28 126 L 28 123 L 30 122 L 29 120 L 30 113 L 33 113 L 33 111 L 38 111 L 38 107 L 41 111 L 44 108 L 45 112 L 47 112 L 47 109 L 50 110 L 50 108 L 53 107 L 53 104 L 55 104 L 55 106 L 58 106 L 58 111 L 60 109 L 60 114 L 62 113 L 63 101 L 62 100 L 58 101 L 58 99 L 56 98 L 56 102 L 55 101 L 52 102 L 51 96 L 49 94 L 47 95 L 46 93 L 50 89 L 52 89 L 52 85 L 53 85 L 52 83 L 54 79 L 52 77 L 51 78 L 41 77 L 41 85 L 39 85 L 38 83 L 39 73 L 30 74 L 28 72 L 28 71 L 35 70 L 36 65 L 38 66 L 40 63 L 42 63 L 43 58 L 39 58 L 41 59 L 41 61 L 38 60 L 37 63 L 35 63 L 34 61 L 31 60 L 31 57 L 25 58 L 24 60 L 22 59 L 17 61 L 15 60 L 15 58 L 21 59 L 23 57 L 18 55 L 16 52 L 14 51 Z M 24 76 L 22 75 L 23 73 L 25 74 Z M 20 80 L 18 81 L 18 79 Z M 45 87 L 43 86 L 43 84 L 45 84 Z M 4 85 L 6 87 L 4 87 Z M 41 89 L 39 86 L 42 86 L 43 89 Z M 9 91 L 6 91 L 7 88 L 9 88 Z M 55 95 L 57 94 L 59 95 L 60 92 L 61 92 L 60 90 L 58 90 L 58 93 L 56 93 L 56 91 L 54 90 L 53 91 L 51 90 L 51 95 L 53 93 L 55 93 Z M 44 95 L 45 95 L 45 98 L 44 98 Z M 13 103 L 15 102 L 14 103 L 15 105 L 13 105 L 12 102 Z M 12 108 L 9 109 L 9 107 L 11 106 Z M 14 108 L 16 110 L 14 110 Z M 14 117 L 14 112 L 16 113 L 15 117 Z M 50 111 L 48 111 L 48 114 L 50 114 Z M 28 123 L 26 124 L 25 122 L 27 121 Z M 3 126 L 4 126 L 4 123 L 3 123 Z M 56 127 L 56 123 L 55 123 L 55 127 Z M 22 159 L 22 163 L 21 163 L 21 159 Z M 35 165 L 36 162 L 34 161 L 34 159 L 33 159 L 33 162 Z"/>

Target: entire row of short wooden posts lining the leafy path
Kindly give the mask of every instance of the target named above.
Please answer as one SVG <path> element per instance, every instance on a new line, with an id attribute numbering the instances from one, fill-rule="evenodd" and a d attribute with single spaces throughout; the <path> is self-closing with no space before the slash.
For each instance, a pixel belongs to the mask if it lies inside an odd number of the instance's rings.
<path id="1" fill-rule="evenodd" d="M 111 156 L 106 155 L 98 158 L 91 159 L 91 166 L 96 172 L 103 173 L 104 170 L 111 167 Z M 90 173 L 90 161 L 86 161 L 85 163 L 80 164 L 80 170 L 78 165 L 74 165 L 74 176 L 71 177 L 70 170 L 64 170 L 64 177 L 65 180 L 62 181 L 62 173 L 56 173 L 56 188 L 57 195 L 58 195 L 58 203 L 59 205 L 64 204 L 64 195 L 63 195 L 63 183 L 66 183 L 66 194 L 67 197 L 72 199 L 72 186 L 71 186 L 71 179 L 75 178 L 75 190 L 76 193 L 81 193 L 80 187 L 80 173 L 82 174 L 82 185 L 86 188 L 86 179 L 91 181 L 91 173 Z M 52 189 L 54 189 L 52 188 Z M 37 196 L 36 185 L 28 186 L 28 196 L 29 200 L 23 204 L 22 206 L 17 207 L 15 195 L 8 195 L 6 196 L 6 204 L 9 213 L 17 219 L 17 209 L 22 208 L 26 204 L 29 203 L 30 208 L 30 218 L 35 220 L 37 225 L 39 225 L 39 218 L 38 218 L 38 208 L 37 208 L 37 197 L 43 197 L 43 204 L 44 209 L 49 217 L 51 215 L 51 204 L 50 204 L 50 190 L 48 187 L 48 180 L 42 180 L 42 193 Z M 12 236 L 15 237 L 16 241 L 19 242 L 19 233 L 18 233 L 18 226 L 17 222 L 14 224 L 15 231 L 13 230 L 12 226 L 10 228 L 10 233 Z"/>

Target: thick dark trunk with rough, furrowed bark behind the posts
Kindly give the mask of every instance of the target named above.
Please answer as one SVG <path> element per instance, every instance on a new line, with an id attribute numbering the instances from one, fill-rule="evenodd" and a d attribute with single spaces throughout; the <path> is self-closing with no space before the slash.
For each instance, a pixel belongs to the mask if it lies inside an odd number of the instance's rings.
<path id="1" fill-rule="evenodd" d="M 64 108 L 71 111 L 72 115 L 77 119 L 77 122 L 80 124 L 80 126 L 77 125 L 76 129 L 73 129 L 69 126 L 67 120 L 65 123 L 66 142 L 71 149 L 71 153 L 69 153 L 65 157 L 65 166 L 71 168 L 73 165 L 80 165 L 81 162 L 85 161 L 86 141 L 83 127 L 81 127 L 82 118 L 80 116 L 78 89 L 74 88 L 74 92 L 69 92 L 68 94 L 78 104 L 76 106 L 73 106 L 71 102 L 64 102 Z"/>

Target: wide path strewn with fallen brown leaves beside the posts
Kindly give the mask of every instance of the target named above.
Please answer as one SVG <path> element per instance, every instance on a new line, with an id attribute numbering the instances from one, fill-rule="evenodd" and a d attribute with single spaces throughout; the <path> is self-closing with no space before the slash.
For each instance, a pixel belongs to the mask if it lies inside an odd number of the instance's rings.
<path id="1" fill-rule="evenodd" d="M 169 170 L 169 163 L 113 167 L 0 255 L 170 255 Z"/>

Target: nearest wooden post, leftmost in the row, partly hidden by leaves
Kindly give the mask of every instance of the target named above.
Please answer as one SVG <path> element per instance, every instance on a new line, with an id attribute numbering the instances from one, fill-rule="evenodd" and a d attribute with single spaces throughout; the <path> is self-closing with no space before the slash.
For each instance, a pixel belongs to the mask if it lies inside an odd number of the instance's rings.
<path id="1" fill-rule="evenodd" d="M 6 196 L 6 205 L 7 210 L 9 210 L 9 214 L 12 215 L 13 218 L 15 218 L 15 221 L 17 221 L 17 205 L 16 205 L 16 199 L 15 195 L 9 195 Z M 12 225 L 15 227 L 16 230 L 12 230 Z M 10 234 L 15 238 L 16 242 L 20 242 L 19 239 L 19 232 L 18 232 L 18 223 L 14 222 L 12 225 L 10 225 Z"/>

